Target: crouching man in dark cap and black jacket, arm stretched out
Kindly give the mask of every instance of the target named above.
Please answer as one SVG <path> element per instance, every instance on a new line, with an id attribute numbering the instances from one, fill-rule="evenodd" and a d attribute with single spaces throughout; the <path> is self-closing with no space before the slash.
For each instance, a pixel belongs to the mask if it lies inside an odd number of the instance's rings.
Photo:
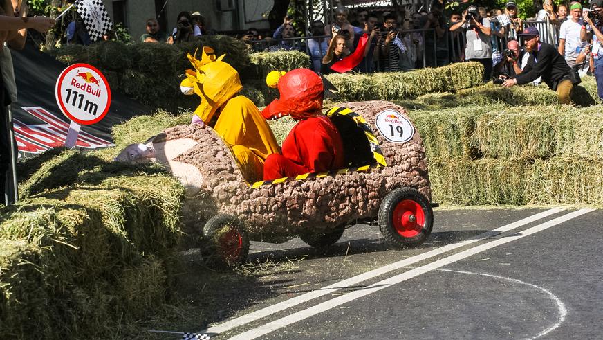
<path id="1" fill-rule="evenodd" d="M 542 77 L 548 87 L 557 92 L 559 103 L 570 104 L 570 93 L 573 83 L 570 80 L 570 66 L 562 55 L 551 44 L 540 42 L 540 33 L 535 27 L 527 27 L 519 36 L 523 37 L 523 44 L 527 53 L 530 53 L 528 64 L 521 74 L 514 79 L 505 80 L 503 87 L 512 87 L 516 84 L 528 84 Z"/>

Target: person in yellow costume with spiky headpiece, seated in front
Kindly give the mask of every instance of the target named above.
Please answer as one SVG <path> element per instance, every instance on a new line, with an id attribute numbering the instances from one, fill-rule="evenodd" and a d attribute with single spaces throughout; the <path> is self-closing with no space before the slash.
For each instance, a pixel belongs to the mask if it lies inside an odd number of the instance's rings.
<path id="1" fill-rule="evenodd" d="M 259 109 L 249 98 L 236 96 L 243 89 L 239 73 L 222 61 L 224 55 L 216 58 L 207 46 L 203 47 L 201 60 L 187 56 L 194 70 L 186 71 L 180 90 L 201 98 L 193 123 L 201 120 L 209 125 L 217 115 L 213 128 L 232 148 L 243 176 L 250 182 L 261 181 L 264 161 L 270 154 L 279 154 L 280 148 Z"/>

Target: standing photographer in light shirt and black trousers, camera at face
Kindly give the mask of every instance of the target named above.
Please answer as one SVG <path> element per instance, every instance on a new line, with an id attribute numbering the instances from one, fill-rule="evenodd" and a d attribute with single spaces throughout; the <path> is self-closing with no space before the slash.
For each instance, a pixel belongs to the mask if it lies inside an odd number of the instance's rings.
<path id="1" fill-rule="evenodd" d="M 490 20 L 481 18 L 477 7 L 469 6 L 463 13 L 463 19 L 452 25 L 450 30 L 465 29 L 467 44 L 465 45 L 465 60 L 479 62 L 483 65 L 483 81 L 488 82 L 492 75 L 492 44 L 490 43 Z"/>

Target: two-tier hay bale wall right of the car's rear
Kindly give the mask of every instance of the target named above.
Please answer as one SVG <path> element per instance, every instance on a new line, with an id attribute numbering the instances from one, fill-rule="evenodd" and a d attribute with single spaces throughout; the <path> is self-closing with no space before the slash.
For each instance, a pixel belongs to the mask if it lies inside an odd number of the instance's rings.
<path id="1" fill-rule="evenodd" d="M 543 87 L 493 85 L 401 104 L 414 108 L 440 204 L 603 204 L 601 105 L 557 105 Z"/>

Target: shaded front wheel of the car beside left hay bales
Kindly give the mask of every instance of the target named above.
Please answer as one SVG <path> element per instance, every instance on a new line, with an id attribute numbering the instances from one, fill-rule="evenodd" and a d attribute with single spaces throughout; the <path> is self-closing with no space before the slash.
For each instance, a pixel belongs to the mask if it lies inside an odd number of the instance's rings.
<path id="1" fill-rule="evenodd" d="M 219 214 L 203 226 L 203 257 L 216 267 L 241 265 L 249 253 L 249 236 L 245 226 L 232 215 Z"/>

